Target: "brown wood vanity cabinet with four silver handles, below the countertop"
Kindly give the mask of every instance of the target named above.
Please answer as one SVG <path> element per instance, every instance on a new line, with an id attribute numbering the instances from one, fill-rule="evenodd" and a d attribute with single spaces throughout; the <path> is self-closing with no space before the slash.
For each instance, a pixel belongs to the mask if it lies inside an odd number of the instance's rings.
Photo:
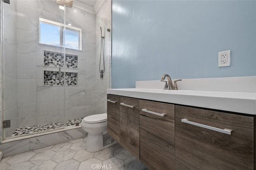
<path id="1" fill-rule="evenodd" d="M 108 133 L 150 170 L 255 170 L 255 115 L 108 94 Z"/>

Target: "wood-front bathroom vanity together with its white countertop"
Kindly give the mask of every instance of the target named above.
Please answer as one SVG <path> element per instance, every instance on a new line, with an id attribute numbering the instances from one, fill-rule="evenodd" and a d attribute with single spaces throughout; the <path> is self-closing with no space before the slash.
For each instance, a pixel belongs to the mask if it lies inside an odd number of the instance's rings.
<path id="1" fill-rule="evenodd" d="M 255 93 L 107 93 L 109 135 L 150 170 L 255 169 Z"/>

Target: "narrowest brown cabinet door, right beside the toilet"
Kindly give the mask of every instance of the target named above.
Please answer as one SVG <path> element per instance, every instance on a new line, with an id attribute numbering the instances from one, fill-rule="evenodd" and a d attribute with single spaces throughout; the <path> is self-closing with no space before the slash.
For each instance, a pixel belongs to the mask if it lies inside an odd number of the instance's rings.
<path id="1" fill-rule="evenodd" d="M 108 134 L 119 143 L 120 135 L 120 97 L 108 94 Z"/>

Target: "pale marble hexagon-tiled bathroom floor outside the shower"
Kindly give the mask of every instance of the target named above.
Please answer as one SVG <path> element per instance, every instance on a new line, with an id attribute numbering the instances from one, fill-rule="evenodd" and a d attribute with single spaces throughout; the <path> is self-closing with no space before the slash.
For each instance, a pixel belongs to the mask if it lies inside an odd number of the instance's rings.
<path id="1" fill-rule="evenodd" d="M 2 158 L 0 170 L 148 170 L 119 144 L 87 152 L 86 139 Z"/>

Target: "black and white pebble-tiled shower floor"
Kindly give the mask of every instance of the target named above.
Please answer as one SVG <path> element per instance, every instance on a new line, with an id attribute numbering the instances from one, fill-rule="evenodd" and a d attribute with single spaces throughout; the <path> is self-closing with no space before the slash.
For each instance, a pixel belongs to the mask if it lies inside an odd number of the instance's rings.
<path id="1" fill-rule="evenodd" d="M 81 121 L 82 121 L 82 118 L 66 121 L 65 127 L 74 126 L 74 125 L 76 125 L 76 123 L 81 123 Z M 48 130 L 57 129 L 57 128 L 60 128 L 63 126 L 64 126 L 63 122 L 58 122 L 58 123 L 50 123 L 50 124 L 46 124 L 46 125 L 20 127 L 15 130 L 15 132 L 12 136 L 30 134 L 30 133 L 34 133 L 34 132 L 48 131 Z"/>

